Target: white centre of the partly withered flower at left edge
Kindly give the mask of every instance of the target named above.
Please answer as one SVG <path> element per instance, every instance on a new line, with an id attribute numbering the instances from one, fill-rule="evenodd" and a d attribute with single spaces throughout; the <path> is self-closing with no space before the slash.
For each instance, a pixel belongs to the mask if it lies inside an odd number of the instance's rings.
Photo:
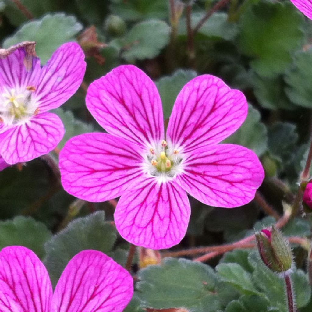
<path id="1" fill-rule="evenodd" d="M 0 94 L 0 122 L 5 125 L 25 123 L 38 113 L 38 104 L 32 96 L 36 89 L 27 86 L 24 90 L 7 89 Z"/>

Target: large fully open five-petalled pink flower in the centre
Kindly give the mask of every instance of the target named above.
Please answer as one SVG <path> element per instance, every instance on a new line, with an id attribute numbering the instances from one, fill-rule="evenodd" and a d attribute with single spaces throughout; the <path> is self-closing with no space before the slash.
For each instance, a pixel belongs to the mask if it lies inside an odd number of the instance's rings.
<path id="1" fill-rule="evenodd" d="M 215 207 L 250 202 L 264 171 L 245 147 L 217 144 L 247 115 L 245 96 L 203 75 L 174 104 L 166 141 L 157 88 L 141 70 L 119 66 L 89 87 L 86 104 L 109 133 L 70 139 L 60 154 L 65 190 L 92 202 L 121 196 L 117 230 L 127 241 L 169 248 L 185 235 L 187 193 Z"/>

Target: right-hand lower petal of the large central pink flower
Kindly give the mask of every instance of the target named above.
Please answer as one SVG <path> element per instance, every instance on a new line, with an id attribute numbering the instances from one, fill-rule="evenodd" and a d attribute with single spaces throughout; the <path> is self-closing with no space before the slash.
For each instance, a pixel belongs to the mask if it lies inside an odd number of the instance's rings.
<path id="1" fill-rule="evenodd" d="M 253 151 L 219 144 L 190 153 L 177 183 L 207 205 L 232 208 L 250 202 L 263 179 L 264 170 Z"/>

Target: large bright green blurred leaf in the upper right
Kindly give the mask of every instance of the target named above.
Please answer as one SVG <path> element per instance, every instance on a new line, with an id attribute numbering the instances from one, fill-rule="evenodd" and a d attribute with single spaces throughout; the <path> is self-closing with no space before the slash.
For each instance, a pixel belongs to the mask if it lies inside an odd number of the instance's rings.
<path id="1" fill-rule="evenodd" d="M 242 15 L 240 27 L 239 48 L 254 58 L 251 67 L 260 76 L 283 73 L 291 64 L 292 52 L 303 43 L 303 15 L 288 2 L 252 5 Z"/>

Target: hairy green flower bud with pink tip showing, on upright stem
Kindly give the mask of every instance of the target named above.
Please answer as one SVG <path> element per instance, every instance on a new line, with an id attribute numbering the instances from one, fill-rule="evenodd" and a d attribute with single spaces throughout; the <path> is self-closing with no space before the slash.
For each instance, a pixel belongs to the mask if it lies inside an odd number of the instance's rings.
<path id="1" fill-rule="evenodd" d="M 288 241 L 275 227 L 257 232 L 256 241 L 264 264 L 276 273 L 287 273 L 292 266 L 292 252 Z"/>

